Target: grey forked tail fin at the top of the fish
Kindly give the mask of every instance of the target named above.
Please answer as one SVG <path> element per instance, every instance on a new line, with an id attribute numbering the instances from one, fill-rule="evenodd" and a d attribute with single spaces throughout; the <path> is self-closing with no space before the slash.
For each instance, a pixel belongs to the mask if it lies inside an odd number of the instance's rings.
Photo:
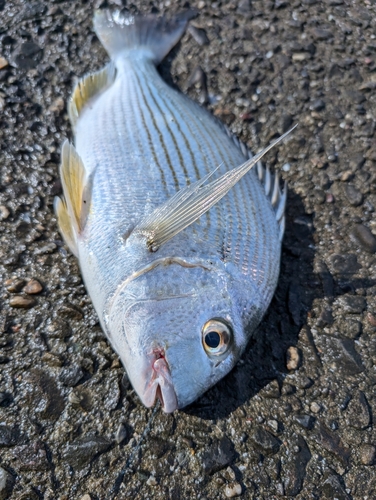
<path id="1" fill-rule="evenodd" d="M 155 15 L 133 16 L 97 10 L 94 30 L 112 59 L 122 52 L 137 50 L 148 52 L 158 64 L 183 36 L 191 17 L 178 15 L 167 20 Z"/>

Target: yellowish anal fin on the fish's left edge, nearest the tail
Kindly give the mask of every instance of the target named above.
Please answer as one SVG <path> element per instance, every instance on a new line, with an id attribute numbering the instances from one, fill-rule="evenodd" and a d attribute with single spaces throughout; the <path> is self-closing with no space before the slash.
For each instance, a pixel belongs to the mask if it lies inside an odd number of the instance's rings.
<path id="1" fill-rule="evenodd" d="M 96 94 L 109 87 L 115 80 L 116 70 L 113 63 L 103 69 L 81 78 L 74 87 L 68 103 L 68 115 L 73 127 L 76 126 L 82 108 Z"/>

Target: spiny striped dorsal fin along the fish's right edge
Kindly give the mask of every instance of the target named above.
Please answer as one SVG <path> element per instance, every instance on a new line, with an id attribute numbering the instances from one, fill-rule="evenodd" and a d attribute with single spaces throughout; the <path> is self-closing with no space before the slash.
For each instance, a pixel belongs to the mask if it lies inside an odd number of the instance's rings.
<path id="1" fill-rule="evenodd" d="M 234 141 L 246 158 L 253 158 L 252 151 L 240 141 L 231 130 L 218 120 L 223 126 L 227 135 Z M 295 127 L 294 127 L 295 128 Z M 279 175 L 276 172 L 274 175 L 270 173 L 269 167 L 264 167 L 261 161 L 256 164 L 257 176 L 261 184 L 264 186 L 265 194 L 270 199 L 271 204 L 275 210 L 277 222 L 279 224 L 279 239 L 282 241 L 283 233 L 285 232 L 285 207 L 287 199 L 287 182 L 284 183 L 283 188 L 279 183 Z"/>

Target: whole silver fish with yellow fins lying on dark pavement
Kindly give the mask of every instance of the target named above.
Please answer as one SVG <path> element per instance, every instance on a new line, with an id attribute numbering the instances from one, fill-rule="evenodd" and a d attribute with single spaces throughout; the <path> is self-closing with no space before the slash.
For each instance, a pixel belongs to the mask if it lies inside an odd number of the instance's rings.
<path id="1" fill-rule="evenodd" d="M 188 16 L 98 10 L 110 62 L 68 102 L 60 232 L 146 407 L 184 408 L 238 362 L 273 297 L 286 185 L 158 64 Z"/>

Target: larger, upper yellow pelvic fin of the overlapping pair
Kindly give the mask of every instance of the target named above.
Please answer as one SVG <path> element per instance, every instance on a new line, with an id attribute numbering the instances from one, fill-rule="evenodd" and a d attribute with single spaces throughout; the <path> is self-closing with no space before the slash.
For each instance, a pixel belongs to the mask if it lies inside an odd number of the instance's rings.
<path id="1" fill-rule="evenodd" d="M 89 212 L 91 183 L 75 147 L 67 140 L 61 150 L 60 177 L 67 213 L 77 237 L 85 226 Z"/>

